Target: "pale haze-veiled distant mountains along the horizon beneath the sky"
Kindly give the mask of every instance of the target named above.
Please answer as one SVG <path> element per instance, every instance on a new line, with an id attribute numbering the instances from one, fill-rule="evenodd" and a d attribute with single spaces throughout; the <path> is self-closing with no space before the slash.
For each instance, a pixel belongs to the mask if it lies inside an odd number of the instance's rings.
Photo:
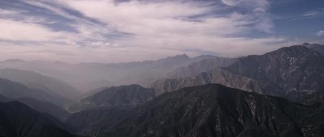
<path id="1" fill-rule="evenodd" d="M 200 55 L 190 58 L 184 54 L 160 60 L 110 64 L 67 64 L 64 62 L 5 60 L 0 62 L 0 68 L 34 71 L 42 75 L 62 79 L 79 89 L 89 91 L 103 86 L 119 86 L 123 84 L 148 86 L 152 81 L 164 77 L 167 73 L 180 66 L 187 66 L 192 62 L 207 58 L 215 58 L 215 56 Z"/>

